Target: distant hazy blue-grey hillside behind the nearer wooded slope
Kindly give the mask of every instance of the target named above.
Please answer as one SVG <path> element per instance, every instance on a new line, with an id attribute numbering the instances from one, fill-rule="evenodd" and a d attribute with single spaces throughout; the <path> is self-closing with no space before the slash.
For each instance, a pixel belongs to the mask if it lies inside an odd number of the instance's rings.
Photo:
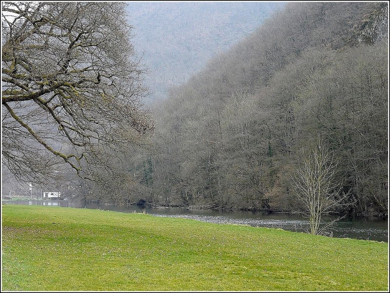
<path id="1" fill-rule="evenodd" d="M 132 39 L 151 76 L 153 98 L 165 98 L 217 53 L 253 32 L 283 2 L 129 2 Z"/>

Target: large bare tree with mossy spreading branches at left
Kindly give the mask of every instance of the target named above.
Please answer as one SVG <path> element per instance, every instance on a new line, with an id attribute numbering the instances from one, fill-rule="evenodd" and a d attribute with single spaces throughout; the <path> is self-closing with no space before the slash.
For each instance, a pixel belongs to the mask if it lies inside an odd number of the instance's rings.
<path id="1" fill-rule="evenodd" d="M 112 156 L 153 131 L 125 5 L 2 2 L 2 164 L 13 174 L 40 183 L 62 163 L 107 181 Z"/>

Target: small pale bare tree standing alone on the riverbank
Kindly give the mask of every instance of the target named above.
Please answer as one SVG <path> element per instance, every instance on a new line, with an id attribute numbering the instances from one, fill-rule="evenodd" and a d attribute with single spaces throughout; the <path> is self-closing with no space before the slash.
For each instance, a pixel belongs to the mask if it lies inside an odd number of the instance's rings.
<path id="1" fill-rule="evenodd" d="M 349 193 L 341 192 L 342 184 L 335 181 L 336 167 L 334 151 L 321 137 L 309 150 L 302 149 L 292 181 L 296 198 L 305 208 L 303 215 L 309 218 L 311 234 L 327 234 L 343 216 L 325 224 L 322 216 L 349 204 L 345 203 Z"/>

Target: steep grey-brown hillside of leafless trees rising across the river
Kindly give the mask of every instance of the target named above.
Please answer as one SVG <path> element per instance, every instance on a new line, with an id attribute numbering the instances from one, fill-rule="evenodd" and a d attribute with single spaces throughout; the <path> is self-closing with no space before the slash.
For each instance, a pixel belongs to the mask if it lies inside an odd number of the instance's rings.
<path id="1" fill-rule="evenodd" d="M 154 107 L 128 200 L 297 210 L 292 169 L 322 135 L 351 191 L 340 212 L 387 214 L 387 31 L 385 2 L 288 3 Z"/>

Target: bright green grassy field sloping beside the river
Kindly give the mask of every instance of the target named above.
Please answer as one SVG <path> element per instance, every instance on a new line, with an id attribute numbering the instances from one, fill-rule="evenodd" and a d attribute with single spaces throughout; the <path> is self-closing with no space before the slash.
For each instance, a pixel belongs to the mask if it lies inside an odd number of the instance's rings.
<path id="1" fill-rule="evenodd" d="M 2 291 L 387 291 L 388 243 L 2 206 Z"/>

